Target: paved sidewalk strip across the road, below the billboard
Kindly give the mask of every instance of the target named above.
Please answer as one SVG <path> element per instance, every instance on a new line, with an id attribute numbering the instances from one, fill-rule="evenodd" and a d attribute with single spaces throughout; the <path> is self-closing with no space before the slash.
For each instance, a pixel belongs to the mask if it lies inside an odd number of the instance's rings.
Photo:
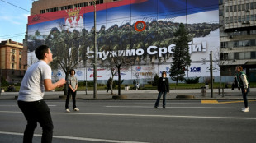
<path id="1" fill-rule="evenodd" d="M 222 90 L 221 90 L 222 91 Z M 114 90 L 114 94 L 117 95 L 117 90 Z M 3 99 L 16 99 L 18 92 L 3 92 L 0 95 L 0 100 Z M 64 91 L 49 91 L 45 92 L 44 99 L 59 99 L 63 100 Z M 121 100 L 155 100 L 157 98 L 157 90 L 121 90 L 121 95 L 126 95 L 126 99 Z M 206 95 L 201 95 L 201 89 L 192 89 L 192 90 L 170 90 L 170 93 L 167 95 L 166 99 L 171 100 L 181 100 L 177 98 L 177 95 L 186 95 L 194 98 L 188 98 L 188 100 L 201 100 L 201 99 L 217 99 L 217 100 L 242 100 L 242 93 L 240 90 L 231 90 L 224 89 L 224 96 L 222 93 L 218 95 L 218 90 L 213 90 L 213 98 L 211 98 L 211 90 L 206 90 Z M 97 91 L 97 99 L 93 98 L 93 91 L 88 91 L 86 95 L 85 91 L 77 92 L 77 99 L 89 99 L 89 100 L 103 100 L 103 99 L 112 99 L 110 92 L 106 90 Z M 249 100 L 256 100 L 256 88 L 251 88 L 248 94 Z M 114 100 L 114 99 L 113 99 Z"/>

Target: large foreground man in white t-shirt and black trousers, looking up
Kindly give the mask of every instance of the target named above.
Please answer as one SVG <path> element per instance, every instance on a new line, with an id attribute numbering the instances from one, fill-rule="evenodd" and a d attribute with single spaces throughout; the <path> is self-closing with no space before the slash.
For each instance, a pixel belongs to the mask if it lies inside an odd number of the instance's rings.
<path id="1" fill-rule="evenodd" d="M 41 142 L 50 143 L 52 142 L 54 126 L 50 116 L 50 108 L 43 97 L 45 90 L 54 90 L 56 87 L 63 86 L 66 81 L 61 79 L 54 84 L 52 83 L 51 68 L 48 64 L 53 61 L 53 58 L 48 46 L 39 46 L 35 53 L 39 61 L 27 69 L 21 81 L 17 99 L 17 104 L 27 121 L 23 143 L 32 142 L 37 122 L 43 129 Z"/>

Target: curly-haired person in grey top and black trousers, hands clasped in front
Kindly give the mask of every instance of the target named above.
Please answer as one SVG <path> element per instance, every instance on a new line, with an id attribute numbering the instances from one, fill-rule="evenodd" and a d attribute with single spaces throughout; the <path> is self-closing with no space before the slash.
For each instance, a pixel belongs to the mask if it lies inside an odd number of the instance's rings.
<path id="1" fill-rule="evenodd" d="M 67 99 L 66 99 L 66 104 L 65 104 L 65 108 L 66 108 L 66 112 L 70 113 L 69 110 L 69 99 L 70 99 L 70 95 L 72 95 L 72 101 L 73 101 L 73 111 L 79 111 L 79 109 L 77 108 L 76 105 L 76 95 L 77 95 L 77 90 L 78 90 L 78 79 L 75 75 L 75 71 L 73 69 L 71 69 L 69 71 L 69 78 L 68 78 L 68 84 L 69 84 L 69 89 L 68 89 L 68 95 L 67 95 Z"/>

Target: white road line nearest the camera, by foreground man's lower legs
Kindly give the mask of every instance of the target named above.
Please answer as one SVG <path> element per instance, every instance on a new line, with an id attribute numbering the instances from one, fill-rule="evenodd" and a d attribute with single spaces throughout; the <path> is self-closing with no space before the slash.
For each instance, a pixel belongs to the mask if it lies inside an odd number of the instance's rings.
<path id="1" fill-rule="evenodd" d="M 6 132 L 6 131 L 0 131 L 0 134 L 23 136 L 23 133 Z M 34 136 L 41 136 L 41 135 L 34 134 Z M 99 141 L 99 142 L 113 142 L 113 143 L 115 143 L 115 142 L 116 143 L 149 143 L 149 142 L 138 142 L 138 141 L 118 141 L 118 140 L 94 139 L 94 138 L 74 137 L 74 136 L 53 136 L 53 137 L 59 138 L 59 139 L 69 139 L 69 140 L 78 140 L 78 141 Z"/>

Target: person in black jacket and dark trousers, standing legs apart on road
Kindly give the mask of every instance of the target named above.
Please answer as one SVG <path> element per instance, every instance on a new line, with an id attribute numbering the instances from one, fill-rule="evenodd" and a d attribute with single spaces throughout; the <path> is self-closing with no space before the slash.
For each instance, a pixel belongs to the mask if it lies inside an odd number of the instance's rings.
<path id="1" fill-rule="evenodd" d="M 166 72 L 162 72 L 162 77 L 159 78 L 159 85 L 158 85 L 158 91 L 159 91 L 159 96 L 158 99 L 156 100 L 154 104 L 154 108 L 159 107 L 159 101 L 161 99 L 161 96 L 163 95 L 163 108 L 165 108 L 165 97 L 166 94 L 169 93 L 169 81 L 168 78 L 166 77 Z"/>

